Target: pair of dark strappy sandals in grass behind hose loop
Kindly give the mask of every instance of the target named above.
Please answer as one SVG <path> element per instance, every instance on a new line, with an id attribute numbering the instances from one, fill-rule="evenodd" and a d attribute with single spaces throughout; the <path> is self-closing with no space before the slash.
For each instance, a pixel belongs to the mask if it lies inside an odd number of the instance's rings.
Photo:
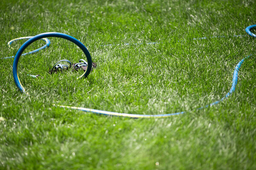
<path id="1" fill-rule="evenodd" d="M 69 65 L 65 65 L 65 64 L 59 64 L 60 62 L 68 62 Z M 84 59 L 79 59 L 78 63 L 74 63 L 71 64 L 71 62 L 67 59 L 62 59 L 60 61 L 58 61 L 53 67 L 52 69 L 49 71 L 49 74 L 52 73 L 58 73 L 59 71 L 64 71 L 64 70 L 68 70 L 69 68 L 72 68 L 74 71 L 79 71 L 79 70 L 84 70 L 86 71 L 87 69 L 87 62 Z M 93 68 L 97 67 L 97 63 L 93 62 L 93 66 L 92 66 L 92 70 Z"/>

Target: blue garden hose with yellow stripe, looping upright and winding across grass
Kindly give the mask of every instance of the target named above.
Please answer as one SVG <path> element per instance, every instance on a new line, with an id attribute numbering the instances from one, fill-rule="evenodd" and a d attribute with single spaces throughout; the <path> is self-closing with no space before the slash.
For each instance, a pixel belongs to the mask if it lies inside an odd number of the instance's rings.
<path id="1" fill-rule="evenodd" d="M 248 26 L 245 31 L 247 32 L 247 34 L 249 34 L 251 37 L 255 37 L 256 35 L 253 34 L 250 29 L 252 28 L 256 28 L 256 25 L 252 25 L 252 26 Z M 77 79 L 81 79 L 81 78 L 85 78 L 90 74 L 91 68 L 92 68 L 92 59 L 90 56 L 89 51 L 87 50 L 87 48 L 77 39 L 75 39 L 74 37 L 71 37 L 67 34 L 62 34 L 62 33 L 57 33 L 57 32 L 48 32 L 48 33 L 43 33 L 43 34 L 38 34 L 35 37 L 31 37 L 29 40 L 27 40 L 17 51 L 17 54 L 15 55 L 15 59 L 13 62 L 13 78 L 15 80 L 15 84 L 17 85 L 17 87 L 20 89 L 21 92 L 25 92 L 25 89 L 23 88 L 23 86 L 20 83 L 20 79 L 18 77 L 18 73 L 17 73 L 17 65 L 18 65 L 18 61 L 19 58 L 22 54 L 22 52 L 24 51 L 24 49 L 30 45 L 32 42 L 35 42 L 36 40 L 39 39 L 46 39 L 46 37 L 60 37 L 60 38 L 64 38 L 67 40 L 70 40 L 71 42 L 75 43 L 76 45 L 78 45 L 82 51 L 84 52 L 84 54 L 87 57 L 87 62 L 88 62 L 88 67 L 87 70 L 84 71 L 84 74 L 82 74 L 80 77 L 78 77 Z M 206 39 L 206 37 L 203 37 L 201 39 Z M 48 39 L 47 39 L 48 40 Z M 38 48 L 39 49 L 39 48 Z M 201 108 L 198 109 L 202 109 L 202 108 L 207 108 L 209 106 L 212 105 L 216 105 L 219 102 L 223 101 L 224 99 L 228 98 L 233 91 L 235 91 L 236 88 L 236 84 L 237 84 L 237 80 L 238 80 L 238 72 L 239 72 L 239 68 L 241 67 L 241 65 L 243 64 L 244 60 L 249 58 L 251 55 L 245 57 L 244 59 L 241 59 L 241 61 L 236 65 L 236 68 L 234 70 L 233 73 L 233 82 L 232 82 L 232 86 L 230 88 L 230 91 L 226 94 L 226 96 L 224 96 L 222 99 L 220 99 L 219 101 L 213 102 L 209 105 L 203 106 Z M 54 105 L 54 104 L 53 104 Z M 174 115 L 180 115 L 185 113 L 185 111 L 182 112 L 177 112 L 177 113 L 169 113 L 169 114 L 157 114 L 157 115 L 143 115 L 143 114 L 128 114 L 128 113 L 116 113 L 116 112 L 110 112 L 110 111 L 101 111 L 101 110 L 96 110 L 96 109 L 90 109 L 90 108 L 79 108 L 79 107 L 74 107 L 74 106 L 64 106 L 64 105 L 54 105 L 54 106 L 58 106 L 61 108 L 70 108 L 70 109 L 76 109 L 76 110 L 80 110 L 80 111 L 86 111 L 86 112 L 92 112 L 92 113 L 97 113 L 97 114 L 103 114 L 103 115 L 109 115 L 109 116 L 122 116 L 122 117 L 130 117 L 130 118 L 162 118 L 162 117 L 169 117 L 169 116 L 174 116 Z"/>

